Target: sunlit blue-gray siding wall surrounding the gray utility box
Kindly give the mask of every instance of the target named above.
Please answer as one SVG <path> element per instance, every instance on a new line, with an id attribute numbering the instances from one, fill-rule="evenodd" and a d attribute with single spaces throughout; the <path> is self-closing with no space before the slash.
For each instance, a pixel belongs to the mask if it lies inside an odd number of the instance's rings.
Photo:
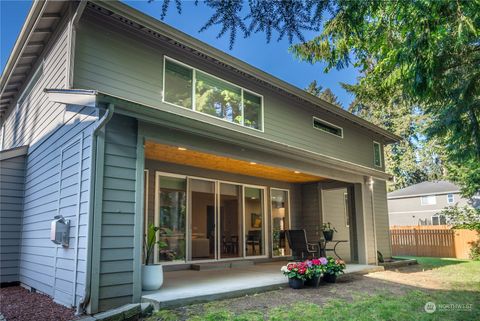
<path id="1" fill-rule="evenodd" d="M 96 111 L 83 108 L 73 115 L 30 146 L 20 254 L 20 282 L 67 306 L 76 305 L 84 294 L 91 131 Z M 56 215 L 71 222 L 68 248 L 50 241 L 50 223 Z"/>

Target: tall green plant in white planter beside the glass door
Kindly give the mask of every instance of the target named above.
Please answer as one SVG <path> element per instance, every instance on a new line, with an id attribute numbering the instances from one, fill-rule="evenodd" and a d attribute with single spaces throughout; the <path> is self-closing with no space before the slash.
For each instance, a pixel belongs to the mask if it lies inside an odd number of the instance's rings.
<path id="1" fill-rule="evenodd" d="M 157 241 L 156 234 L 160 230 L 153 224 L 150 224 L 145 235 L 144 262 L 142 265 L 142 288 L 146 291 L 158 290 L 163 284 L 163 266 L 161 264 L 151 263 L 151 256 L 155 244 L 160 249 L 165 248 L 167 244 L 163 241 Z"/>

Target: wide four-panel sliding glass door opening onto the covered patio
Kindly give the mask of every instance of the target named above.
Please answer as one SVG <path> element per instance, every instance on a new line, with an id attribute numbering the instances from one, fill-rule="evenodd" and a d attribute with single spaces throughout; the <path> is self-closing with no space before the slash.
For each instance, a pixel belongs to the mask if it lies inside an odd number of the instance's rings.
<path id="1" fill-rule="evenodd" d="M 156 173 L 155 262 L 265 256 L 266 190 Z"/>

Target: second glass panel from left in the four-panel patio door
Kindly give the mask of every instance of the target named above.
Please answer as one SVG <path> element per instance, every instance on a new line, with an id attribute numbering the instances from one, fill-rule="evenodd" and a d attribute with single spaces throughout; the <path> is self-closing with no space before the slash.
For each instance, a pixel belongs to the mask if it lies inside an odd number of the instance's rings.
<path id="1" fill-rule="evenodd" d="M 191 179 L 191 258 L 216 258 L 216 195 L 215 182 Z"/>

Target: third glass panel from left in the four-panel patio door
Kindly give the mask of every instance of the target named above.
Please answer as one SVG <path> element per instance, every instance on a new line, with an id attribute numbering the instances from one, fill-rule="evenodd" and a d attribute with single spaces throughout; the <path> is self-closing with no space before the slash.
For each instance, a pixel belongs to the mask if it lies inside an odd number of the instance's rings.
<path id="1" fill-rule="evenodd" d="M 220 183 L 220 258 L 243 256 L 241 185 Z"/>

